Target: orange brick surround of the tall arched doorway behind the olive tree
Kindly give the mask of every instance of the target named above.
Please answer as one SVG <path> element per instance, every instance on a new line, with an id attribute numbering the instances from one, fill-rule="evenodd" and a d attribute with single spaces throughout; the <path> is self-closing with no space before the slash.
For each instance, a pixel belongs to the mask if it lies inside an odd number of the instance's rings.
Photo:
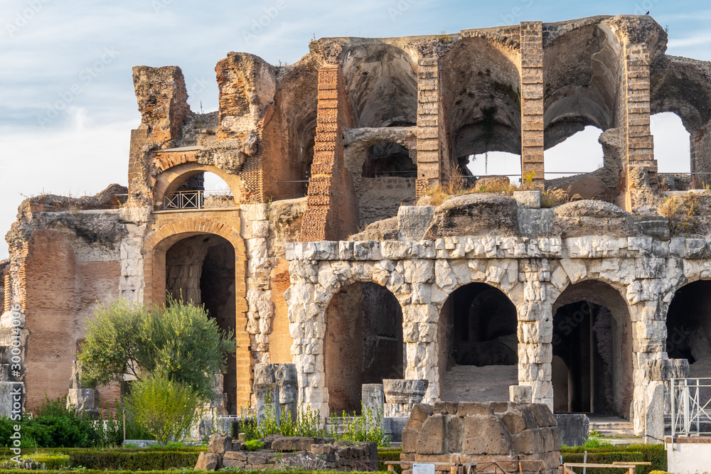
<path id="1" fill-rule="evenodd" d="M 146 235 L 144 241 L 144 301 L 166 302 L 166 252 L 186 237 L 213 234 L 223 237 L 235 249 L 235 338 L 237 340 L 237 406 L 250 406 L 252 355 L 247 334 L 247 249 L 239 233 L 240 222 L 220 222 L 205 217 L 176 217 Z"/>

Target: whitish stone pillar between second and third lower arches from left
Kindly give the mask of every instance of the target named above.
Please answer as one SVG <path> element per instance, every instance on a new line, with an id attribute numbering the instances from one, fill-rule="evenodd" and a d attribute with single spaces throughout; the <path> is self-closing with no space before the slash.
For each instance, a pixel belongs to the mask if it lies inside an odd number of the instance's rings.
<path id="1" fill-rule="evenodd" d="M 547 259 L 522 260 L 523 302 L 518 311 L 518 383 L 531 388 L 533 403 L 553 411 L 551 361 L 553 321 L 546 287 L 550 285 Z"/>

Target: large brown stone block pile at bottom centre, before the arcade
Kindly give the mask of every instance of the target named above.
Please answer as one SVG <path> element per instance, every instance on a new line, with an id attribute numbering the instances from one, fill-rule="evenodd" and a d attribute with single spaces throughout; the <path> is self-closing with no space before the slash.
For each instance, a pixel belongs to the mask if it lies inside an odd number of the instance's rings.
<path id="1" fill-rule="evenodd" d="M 544 404 L 513 402 L 435 402 L 417 404 L 402 431 L 401 461 L 449 465 L 494 460 L 542 460 L 545 470 L 557 472 L 560 430 Z M 412 465 L 403 464 L 403 474 Z M 535 473 L 538 463 L 524 463 L 522 473 Z M 518 471 L 518 466 L 517 466 Z"/>

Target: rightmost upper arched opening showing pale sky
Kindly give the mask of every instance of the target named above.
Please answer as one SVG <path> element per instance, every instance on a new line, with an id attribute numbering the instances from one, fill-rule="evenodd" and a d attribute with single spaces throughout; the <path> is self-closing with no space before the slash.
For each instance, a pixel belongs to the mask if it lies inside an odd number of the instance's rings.
<path id="1" fill-rule="evenodd" d="M 684 191 L 692 187 L 690 134 L 674 112 L 661 112 L 650 117 L 654 137 L 654 159 L 657 161 L 662 191 Z M 698 183 L 711 182 L 711 176 L 699 176 Z"/>

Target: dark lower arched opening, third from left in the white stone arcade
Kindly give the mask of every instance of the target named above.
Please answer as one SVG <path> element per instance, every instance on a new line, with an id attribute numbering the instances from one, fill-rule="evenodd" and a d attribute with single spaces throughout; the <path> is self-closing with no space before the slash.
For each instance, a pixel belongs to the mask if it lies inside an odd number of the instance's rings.
<path id="1" fill-rule="evenodd" d="M 632 333 L 616 289 L 582 281 L 553 304 L 553 409 L 629 418 Z"/>

